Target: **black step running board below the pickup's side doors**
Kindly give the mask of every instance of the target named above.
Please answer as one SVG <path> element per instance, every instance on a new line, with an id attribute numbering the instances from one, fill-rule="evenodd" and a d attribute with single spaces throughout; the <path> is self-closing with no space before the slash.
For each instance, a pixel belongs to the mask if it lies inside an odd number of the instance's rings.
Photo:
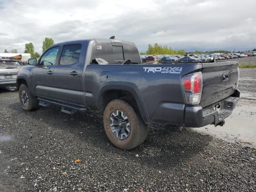
<path id="1" fill-rule="evenodd" d="M 53 101 L 53 100 L 49 100 L 49 99 L 45 99 L 45 98 L 37 98 L 39 100 L 39 105 L 40 106 L 44 106 L 44 107 L 48 107 L 50 104 L 55 104 L 55 105 L 60 105 L 61 107 L 61 112 L 67 113 L 67 114 L 74 114 L 77 111 L 81 111 L 81 112 L 86 112 L 87 109 L 80 107 L 80 106 L 74 106 L 74 105 L 68 105 L 62 102 L 58 102 L 58 101 Z"/>

